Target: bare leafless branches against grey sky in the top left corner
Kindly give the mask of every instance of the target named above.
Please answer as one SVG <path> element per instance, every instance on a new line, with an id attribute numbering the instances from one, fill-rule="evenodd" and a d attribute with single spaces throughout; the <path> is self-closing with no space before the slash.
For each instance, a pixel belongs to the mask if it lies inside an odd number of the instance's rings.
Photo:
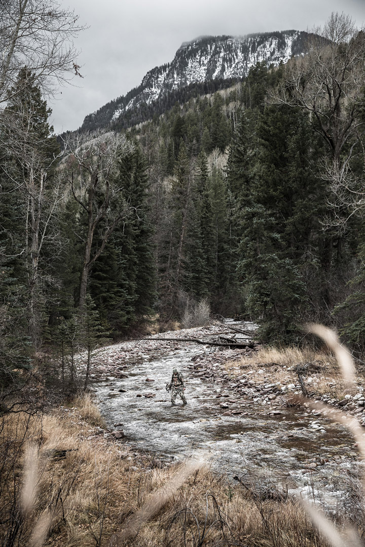
<path id="1" fill-rule="evenodd" d="M 82 28 L 78 16 L 55 0 L 0 0 L 0 102 L 8 100 L 21 67 L 50 94 L 80 75 L 72 40 Z"/>

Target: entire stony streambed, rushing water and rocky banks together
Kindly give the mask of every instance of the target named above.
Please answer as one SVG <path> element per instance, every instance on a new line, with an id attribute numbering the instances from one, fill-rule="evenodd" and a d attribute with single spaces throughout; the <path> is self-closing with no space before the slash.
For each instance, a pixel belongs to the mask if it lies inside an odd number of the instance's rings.
<path id="1" fill-rule="evenodd" d="M 298 404 L 297 355 L 282 362 L 277 356 L 274 362 L 261 360 L 265 348 L 258 345 L 208 344 L 231 336 L 227 324 L 164 336 L 166 340 L 154 335 L 98 352 L 92 388 L 107 423 L 99 435 L 148 453 L 162 466 L 200 453 L 229 480 L 257 485 L 270 477 L 281 492 L 315 496 L 331 510 L 342 504 L 350 476 L 356 484 L 356 445 L 345 427 L 306 402 Z M 171 408 L 165 391 L 173 367 L 186 377 L 185 407 L 179 401 Z M 339 397 L 343 386 L 332 370 L 325 354 L 302 376 L 310 400 L 345 407 L 362 418 L 363 380 L 359 377 Z"/>

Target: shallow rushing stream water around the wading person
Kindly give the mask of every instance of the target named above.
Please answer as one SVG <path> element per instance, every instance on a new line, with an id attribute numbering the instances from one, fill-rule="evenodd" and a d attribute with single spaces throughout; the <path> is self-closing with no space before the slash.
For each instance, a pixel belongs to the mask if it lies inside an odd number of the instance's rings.
<path id="1" fill-rule="evenodd" d="M 139 362 L 121 367 L 126 377 L 109 375 L 96 384 L 108 426 L 124 431 L 121 442 L 163 460 L 204 454 L 213 470 L 230 479 L 270 477 L 289 492 L 315 496 L 327 508 L 339 510 L 357 470 L 349 432 L 324 418 L 325 431 L 309 429 L 314 416 L 303 409 L 282 408 L 281 414 L 269 415 L 259 401 L 234 401 L 225 383 L 202 380 L 193 370 L 192 358 L 211 350 L 185 346 L 158 359 L 142 355 Z M 186 406 L 179 397 L 177 406 L 171 406 L 165 390 L 173 367 L 185 376 Z M 219 394 L 223 397 L 217 398 Z M 224 416 L 223 400 L 237 403 L 242 413 Z"/>

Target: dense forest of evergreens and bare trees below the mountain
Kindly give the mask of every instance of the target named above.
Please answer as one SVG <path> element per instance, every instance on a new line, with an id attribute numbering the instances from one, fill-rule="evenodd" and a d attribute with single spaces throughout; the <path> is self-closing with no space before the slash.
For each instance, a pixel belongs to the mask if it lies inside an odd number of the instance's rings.
<path id="1" fill-rule="evenodd" d="M 315 321 L 363 353 L 365 36 L 333 15 L 310 40 L 128 130 L 58 140 L 42 72 L 3 66 L 3 388 L 46 347 L 63 366 L 202 301 L 265 342 Z"/>

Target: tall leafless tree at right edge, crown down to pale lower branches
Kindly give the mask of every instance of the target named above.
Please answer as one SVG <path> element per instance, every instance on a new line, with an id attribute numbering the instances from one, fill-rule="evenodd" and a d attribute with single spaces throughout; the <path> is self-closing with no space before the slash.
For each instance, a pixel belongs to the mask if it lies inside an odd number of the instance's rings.
<path id="1" fill-rule="evenodd" d="M 332 13 L 325 27 L 311 34 L 308 54 L 293 58 L 284 69 L 279 88 L 269 101 L 308 111 L 311 123 L 328 145 L 323 179 L 328 181 L 328 205 L 333 215 L 326 224 L 342 228 L 363 206 L 361 184 L 354 182 L 350 162 L 363 155 L 365 130 L 365 31 L 350 16 Z M 349 212 L 344 210 L 350 206 Z"/>

